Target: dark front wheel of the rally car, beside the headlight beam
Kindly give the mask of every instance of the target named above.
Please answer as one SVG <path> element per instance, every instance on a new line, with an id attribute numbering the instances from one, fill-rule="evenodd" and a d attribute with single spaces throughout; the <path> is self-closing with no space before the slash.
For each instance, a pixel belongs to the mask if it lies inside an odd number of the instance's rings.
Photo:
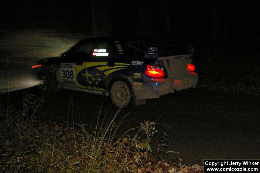
<path id="1" fill-rule="evenodd" d="M 45 72 L 41 73 L 39 75 L 39 80 L 41 81 L 41 84 L 39 85 L 40 92 L 42 92 L 44 95 L 47 95 L 53 91 L 52 81 L 49 74 Z"/>

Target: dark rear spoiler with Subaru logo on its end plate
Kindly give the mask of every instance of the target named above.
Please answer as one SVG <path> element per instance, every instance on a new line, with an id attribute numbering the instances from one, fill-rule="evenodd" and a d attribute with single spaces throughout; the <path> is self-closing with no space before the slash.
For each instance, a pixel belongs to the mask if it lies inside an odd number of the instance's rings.
<path id="1" fill-rule="evenodd" d="M 168 56 L 180 56 L 194 54 L 193 45 L 168 45 L 168 46 L 151 46 L 145 53 L 145 58 L 158 58 Z"/>

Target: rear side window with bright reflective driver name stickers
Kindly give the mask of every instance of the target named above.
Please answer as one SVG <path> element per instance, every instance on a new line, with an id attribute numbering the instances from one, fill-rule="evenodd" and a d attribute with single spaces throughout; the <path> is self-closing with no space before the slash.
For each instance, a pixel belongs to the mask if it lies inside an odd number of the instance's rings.
<path id="1" fill-rule="evenodd" d="M 116 51 L 112 43 L 106 41 L 98 41 L 94 43 L 92 49 L 93 59 L 103 59 L 103 58 L 116 58 Z"/>

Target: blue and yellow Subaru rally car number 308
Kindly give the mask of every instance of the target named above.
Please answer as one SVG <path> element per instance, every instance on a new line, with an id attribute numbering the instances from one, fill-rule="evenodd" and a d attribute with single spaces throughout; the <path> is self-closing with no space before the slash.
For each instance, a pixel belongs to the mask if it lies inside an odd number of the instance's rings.
<path id="1" fill-rule="evenodd" d="M 32 66 L 48 94 L 69 89 L 110 96 L 118 107 L 145 104 L 179 90 L 195 88 L 191 45 L 163 45 L 142 40 L 87 38 L 61 54 Z"/>

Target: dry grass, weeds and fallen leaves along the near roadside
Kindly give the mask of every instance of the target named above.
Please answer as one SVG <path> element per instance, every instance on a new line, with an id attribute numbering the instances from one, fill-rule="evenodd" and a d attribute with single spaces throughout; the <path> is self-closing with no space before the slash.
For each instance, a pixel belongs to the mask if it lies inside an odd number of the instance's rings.
<path id="1" fill-rule="evenodd" d="M 2 99 L 2 97 L 1 97 Z M 9 100 L 11 103 L 12 100 Z M 0 109 L 1 172 L 202 172 L 201 165 L 162 159 L 167 151 L 164 133 L 157 148 L 150 143 L 157 135 L 156 123 L 141 122 L 116 137 L 118 112 L 95 128 L 68 122 L 41 122 L 43 98 L 24 93 L 21 105 L 6 100 Z M 107 116 L 109 117 L 109 116 Z M 99 118 L 99 116 L 98 116 Z M 123 120 L 122 120 L 123 121 Z"/>

